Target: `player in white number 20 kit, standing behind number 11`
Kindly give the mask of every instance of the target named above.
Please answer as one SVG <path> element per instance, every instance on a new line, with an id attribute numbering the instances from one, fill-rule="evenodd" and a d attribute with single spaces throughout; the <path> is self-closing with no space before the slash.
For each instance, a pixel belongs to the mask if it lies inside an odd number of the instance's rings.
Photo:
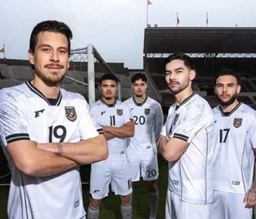
<path id="1" fill-rule="evenodd" d="M 131 166 L 132 182 L 147 181 L 149 190 L 150 219 L 156 218 L 158 202 L 158 164 L 156 141 L 163 126 L 161 105 L 146 96 L 147 77 L 137 73 L 132 76 L 134 96 L 126 100 L 132 110 L 135 134 L 128 140 L 127 155 Z"/>

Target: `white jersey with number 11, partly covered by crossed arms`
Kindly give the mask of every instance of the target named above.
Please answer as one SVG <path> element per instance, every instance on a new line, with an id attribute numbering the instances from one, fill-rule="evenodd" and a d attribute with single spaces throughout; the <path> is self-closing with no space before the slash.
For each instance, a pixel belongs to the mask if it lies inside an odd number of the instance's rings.
<path id="1" fill-rule="evenodd" d="M 97 121 L 99 125 L 121 127 L 129 121 L 133 121 L 130 108 L 118 100 L 109 105 L 100 99 L 90 105 L 90 113 L 94 121 Z M 125 138 L 108 140 L 107 160 L 126 160 L 126 142 Z"/>

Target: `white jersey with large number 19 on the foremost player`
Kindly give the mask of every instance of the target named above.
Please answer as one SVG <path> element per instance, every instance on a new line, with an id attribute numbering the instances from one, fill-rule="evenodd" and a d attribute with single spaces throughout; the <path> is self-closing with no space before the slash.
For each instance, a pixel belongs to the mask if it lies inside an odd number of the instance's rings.
<path id="1" fill-rule="evenodd" d="M 78 167 L 52 176 L 28 176 L 15 167 L 6 149 L 19 140 L 78 142 L 98 136 L 84 97 L 61 89 L 53 102 L 30 82 L 0 90 L 0 136 L 12 175 L 10 219 L 79 219 L 85 215 Z"/>

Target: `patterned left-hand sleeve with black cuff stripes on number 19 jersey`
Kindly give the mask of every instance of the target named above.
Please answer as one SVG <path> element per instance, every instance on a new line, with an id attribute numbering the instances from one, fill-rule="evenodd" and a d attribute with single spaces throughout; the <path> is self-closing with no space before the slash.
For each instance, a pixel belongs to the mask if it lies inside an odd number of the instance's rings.
<path id="1" fill-rule="evenodd" d="M 0 137 L 3 146 L 30 140 L 26 109 L 9 93 L 0 92 Z"/>

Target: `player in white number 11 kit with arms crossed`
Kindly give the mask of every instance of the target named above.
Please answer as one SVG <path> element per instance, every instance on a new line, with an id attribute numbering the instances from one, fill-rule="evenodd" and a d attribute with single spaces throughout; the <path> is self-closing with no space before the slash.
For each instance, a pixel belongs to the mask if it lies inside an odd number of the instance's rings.
<path id="1" fill-rule="evenodd" d="M 123 219 L 131 219 L 132 182 L 126 154 L 126 138 L 134 135 L 134 121 L 130 108 L 116 99 L 118 78 L 105 74 L 100 78 L 100 100 L 90 105 L 95 121 L 103 127 L 109 156 L 107 160 L 93 163 L 90 178 L 90 205 L 88 219 L 99 217 L 101 199 L 108 195 L 109 184 L 121 199 Z"/>

